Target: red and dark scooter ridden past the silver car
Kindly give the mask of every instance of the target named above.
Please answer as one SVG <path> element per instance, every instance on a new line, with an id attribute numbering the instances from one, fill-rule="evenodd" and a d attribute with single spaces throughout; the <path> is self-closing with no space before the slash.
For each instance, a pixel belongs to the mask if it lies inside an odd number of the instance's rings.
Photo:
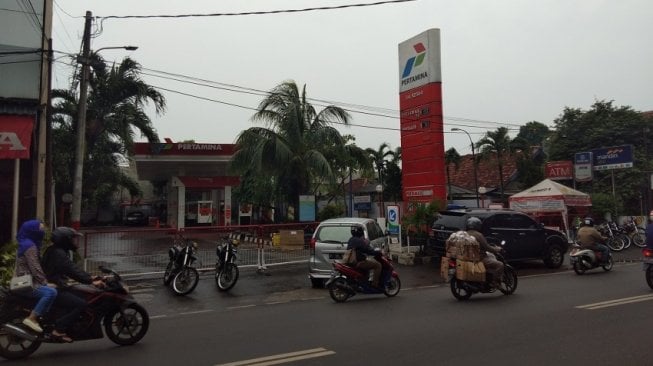
<path id="1" fill-rule="evenodd" d="M 387 297 L 396 296 L 401 290 L 401 281 L 399 280 L 399 274 L 392 266 L 392 261 L 381 250 L 376 251 L 374 259 L 381 263 L 381 278 L 379 281 L 382 288 L 372 286 L 368 271 L 336 261 L 333 263 L 331 278 L 326 283 L 331 298 L 335 302 L 345 302 L 357 293 L 384 294 Z"/>

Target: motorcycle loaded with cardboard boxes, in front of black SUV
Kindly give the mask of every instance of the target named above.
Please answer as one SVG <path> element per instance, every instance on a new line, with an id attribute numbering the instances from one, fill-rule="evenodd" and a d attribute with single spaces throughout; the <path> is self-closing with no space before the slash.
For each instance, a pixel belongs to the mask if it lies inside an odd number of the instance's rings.
<path id="1" fill-rule="evenodd" d="M 502 242 L 505 244 L 505 242 Z M 497 289 L 504 295 L 510 295 L 517 290 L 517 272 L 506 263 L 501 253 L 495 254 L 497 260 L 503 263 L 503 275 L 501 276 L 501 286 L 494 285 L 494 279 L 489 273 L 485 274 L 485 281 L 465 281 L 456 277 L 457 262 L 455 258 L 449 258 L 449 283 L 451 293 L 458 300 L 468 300 L 475 293 L 493 293 Z"/>

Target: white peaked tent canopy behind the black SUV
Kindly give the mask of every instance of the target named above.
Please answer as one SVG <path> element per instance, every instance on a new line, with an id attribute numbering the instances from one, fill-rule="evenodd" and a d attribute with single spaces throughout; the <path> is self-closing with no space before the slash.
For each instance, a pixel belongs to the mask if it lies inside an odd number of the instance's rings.
<path id="1" fill-rule="evenodd" d="M 592 206 L 590 196 L 581 191 L 567 187 L 550 179 L 512 195 L 510 208 L 527 213 L 559 212 L 569 237 L 568 207 Z"/>

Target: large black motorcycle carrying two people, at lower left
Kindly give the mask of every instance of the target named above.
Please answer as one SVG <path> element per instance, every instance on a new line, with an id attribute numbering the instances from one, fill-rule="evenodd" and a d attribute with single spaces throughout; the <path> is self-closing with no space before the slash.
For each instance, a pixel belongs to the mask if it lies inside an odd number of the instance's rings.
<path id="1" fill-rule="evenodd" d="M 104 288 L 81 284 L 71 286 L 70 291 L 86 300 L 87 307 L 68 329 L 67 335 L 73 341 L 84 341 L 100 339 L 106 334 L 118 345 L 132 345 L 147 333 L 149 315 L 129 294 L 118 273 L 104 267 L 100 270 L 108 274 Z M 36 352 L 42 343 L 65 343 L 52 335 L 55 320 L 65 314 L 65 308 L 53 306 L 41 319 L 43 333 L 35 333 L 22 324 L 37 301 L 0 288 L 0 357 L 10 360 L 25 358 Z"/>

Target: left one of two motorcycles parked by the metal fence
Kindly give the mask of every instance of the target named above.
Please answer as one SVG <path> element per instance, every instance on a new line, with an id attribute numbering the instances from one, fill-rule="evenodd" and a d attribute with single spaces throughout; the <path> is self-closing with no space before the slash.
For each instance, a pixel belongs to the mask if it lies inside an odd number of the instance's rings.
<path id="1" fill-rule="evenodd" d="M 163 273 L 163 284 L 170 286 L 175 294 L 183 296 L 191 293 L 200 280 L 199 272 L 193 263 L 197 260 L 197 243 L 177 234 L 168 249 L 169 262 Z"/>

